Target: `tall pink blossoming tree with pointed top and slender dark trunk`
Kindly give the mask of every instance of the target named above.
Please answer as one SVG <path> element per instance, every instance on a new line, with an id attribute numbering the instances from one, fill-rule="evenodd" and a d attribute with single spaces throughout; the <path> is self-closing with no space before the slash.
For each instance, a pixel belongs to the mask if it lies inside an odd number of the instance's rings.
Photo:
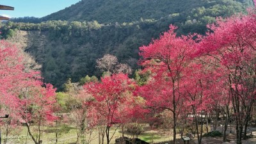
<path id="1" fill-rule="evenodd" d="M 141 65 L 152 71 L 151 81 L 143 86 L 141 95 L 148 106 L 168 109 L 173 113 L 173 141 L 176 142 L 176 126 L 182 104 L 182 79 L 190 61 L 195 41 L 193 36 L 180 36 L 175 26 L 164 32 L 148 46 L 140 47 Z"/>

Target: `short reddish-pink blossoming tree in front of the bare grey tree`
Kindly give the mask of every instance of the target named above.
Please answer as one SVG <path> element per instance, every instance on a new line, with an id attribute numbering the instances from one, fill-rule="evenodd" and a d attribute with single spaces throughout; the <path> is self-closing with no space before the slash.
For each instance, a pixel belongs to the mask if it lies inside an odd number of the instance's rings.
<path id="1" fill-rule="evenodd" d="M 86 93 L 92 95 L 93 100 L 86 102 L 90 104 L 92 112 L 99 115 L 95 116 L 100 125 L 104 125 L 107 143 L 113 138 L 109 130 L 113 124 L 120 123 L 124 116 L 124 108 L 122 105 L 128 101 L 128 96 L 131 95 L 133 82 L 125 74 L 113 74 L 113 76 L 105 76 L 100 82 L 92 82 L 84 85 Z M 115 129 L 116 130 L 116 129 Z M 114 132 L 115 133 L 115 132 Z M 104 143 L 100 141 L 101 143 Z"/>

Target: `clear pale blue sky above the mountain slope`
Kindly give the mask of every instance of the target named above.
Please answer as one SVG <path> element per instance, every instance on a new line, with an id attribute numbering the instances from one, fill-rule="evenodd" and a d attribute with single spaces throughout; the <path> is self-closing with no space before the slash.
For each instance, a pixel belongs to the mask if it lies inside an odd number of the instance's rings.
<path id="1" fill-rule="evenodd" d="M 0 15 L 8 17 L 44 17 L 58 12 L 80 0 L 0 0 L 1 5 L 12 6 L 12 10 L 0 10 Z"/>

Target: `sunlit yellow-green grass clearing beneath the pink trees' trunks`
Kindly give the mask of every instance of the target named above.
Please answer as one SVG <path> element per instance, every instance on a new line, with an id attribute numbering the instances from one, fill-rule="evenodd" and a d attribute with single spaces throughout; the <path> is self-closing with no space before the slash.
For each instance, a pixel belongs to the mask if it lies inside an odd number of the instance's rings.
<path id="1" fill-rule="evenodd" d="M 147 127 L 147 125 L 145 125 Z M 60 135 L 58 136 L 58 143 L 76 143 L 77 140 L 77 134 L 76 129 L 72 125 L 61 125 L 60 127 Z M 113 134 L 115 128 L 111 129 L 111 134 Z M 55 135 L 55 128 L 54 127 L 44 127 L 42 134 L 42 141 L 43 143 L 51 144 L 56 143 L 56 135 Z M 167 134 L 168 132 L 160 132 L 157 130 L 154 131 L 144 131 L 142 134 L 138 136 L 141 140 L 147 141 L 148 143 L 159 143 L 162 141 L 169 141 L 170 140 L 170 134 Z M 28 138 L 27 138 L 28 136 Z M 89 135 L 86 134 L 85 140 L 87 140 Z M 122 136 L 122 133 L 120 129 L 117 129 L 115 132 L 115 135 L 113 136 L 113 139 L 111 140 L 111 143 L 115 143 L 116 138 L 120 138 Z M 132 137 L 130 134 L 125 133 L 125 136 Z M 93 130 L 92 134 L 92 142 L 91 144 L 98 144 L 98 131 L 97 129 Z M 2 143 L 4 139 L 4 133 L 2 134 Z M 106 141 L 106 140 L 105 140 Z M 16 129 L 12 132 L 12 134 L 9 135 L 7 143 L 34 143 L 33 140 L 28 135 L 28 131 L 26 127 L 20 126 L 19 129 Z M 83 143 L 83 138 L 79 138 L 79 143 Z"/>

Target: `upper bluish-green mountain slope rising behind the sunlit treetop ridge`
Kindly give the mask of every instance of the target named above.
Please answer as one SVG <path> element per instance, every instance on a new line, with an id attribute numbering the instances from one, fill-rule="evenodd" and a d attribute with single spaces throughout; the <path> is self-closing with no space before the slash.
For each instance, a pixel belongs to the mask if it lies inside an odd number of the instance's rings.
<path id="1" fill-rule="evenodd" d="M 186 15 L 203 7 L 215 9 L 209 16 L 227 16 L 250 5 L 252 0 L 82 0 L 42 20 L 132 22 L 140 18 L 161 19 L 173 13 Z"/>

